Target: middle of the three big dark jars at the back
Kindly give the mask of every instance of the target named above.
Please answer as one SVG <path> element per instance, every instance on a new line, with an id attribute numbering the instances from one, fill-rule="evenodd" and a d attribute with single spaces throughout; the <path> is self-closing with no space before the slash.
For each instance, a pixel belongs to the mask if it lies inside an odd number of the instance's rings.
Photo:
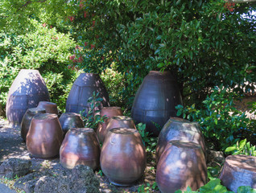
<path id="1" fill-rule="evenodd" d="M 99 93 L 101 97 L 101 105 L 96 110 L 101 110 L 104 106 L 109 106 L 109 94 L 105 89 L 105 85 L 98 74 L 81 73 L 76 79 L 68 94 L 66 112 L 80 113 L 85 116 L 89 112 L 89 97 L 93 96 L 93 92 Z"/>

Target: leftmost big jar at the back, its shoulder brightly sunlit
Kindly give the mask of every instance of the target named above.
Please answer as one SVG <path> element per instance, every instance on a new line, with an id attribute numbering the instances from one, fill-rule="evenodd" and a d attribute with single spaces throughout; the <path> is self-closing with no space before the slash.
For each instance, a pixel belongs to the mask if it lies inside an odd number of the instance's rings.
<path id="1" fill-rule="evenodd" d="M 37 70 L 22 69 L 11 84 L 7 101 L 6 117 L 10 127 L 19 127 L 27 109 L 35 108 L 39 101 L 50 101 L 43 77 Z"/>

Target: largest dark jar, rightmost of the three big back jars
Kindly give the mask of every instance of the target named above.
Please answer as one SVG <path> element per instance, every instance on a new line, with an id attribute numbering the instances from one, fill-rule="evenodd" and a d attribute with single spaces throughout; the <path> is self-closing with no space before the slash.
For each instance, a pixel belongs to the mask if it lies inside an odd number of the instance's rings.
<path id="1" fill-rule="evenodd" d="M 171 72 L 151 71 L 136 92 L 131 117 L 158 136 L 169 117 L 176 116 L 175 106 L 181 104 L 180 90 Z"/>

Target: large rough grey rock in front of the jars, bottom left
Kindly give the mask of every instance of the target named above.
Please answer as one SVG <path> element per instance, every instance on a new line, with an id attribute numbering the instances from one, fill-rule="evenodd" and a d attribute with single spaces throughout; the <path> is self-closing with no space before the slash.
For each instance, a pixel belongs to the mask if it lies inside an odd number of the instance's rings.
<path id="1" fill-rule="evenodd" d="M 72 170 L 56 164 L 52 170 L 34 172 L 14 183 L 26 193 L 97 193 L 100 183 L 89 166 L 75 166 Z"/>

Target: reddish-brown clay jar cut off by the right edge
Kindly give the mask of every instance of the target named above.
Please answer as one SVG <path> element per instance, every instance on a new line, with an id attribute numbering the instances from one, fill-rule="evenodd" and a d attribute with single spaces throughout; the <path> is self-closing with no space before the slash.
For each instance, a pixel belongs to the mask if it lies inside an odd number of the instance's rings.
<path id="1" fill-rule="evenodd" d="M 229 155 L 225 158 L 220 179 L 230 191 L 237 192 L 237 188 L 241 186 L 256 189 L 256 157 Z"/>

